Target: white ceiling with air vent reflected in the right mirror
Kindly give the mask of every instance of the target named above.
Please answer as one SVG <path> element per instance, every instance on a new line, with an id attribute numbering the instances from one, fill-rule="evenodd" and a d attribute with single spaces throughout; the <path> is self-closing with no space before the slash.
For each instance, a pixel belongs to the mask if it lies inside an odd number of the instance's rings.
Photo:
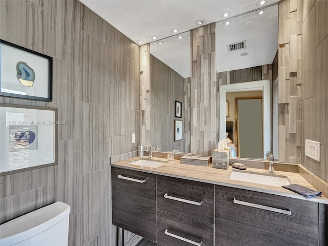
<path id="1" fill-rule="evenodd" d="M 216 71 L 224 72 L 272 64 L 278 49 L 278 5 L 216 23 Z M 228 45 L 245 41 L 243 49 L 228 51 Z M 242 53 L 248 55 L 241 56 Z"/>

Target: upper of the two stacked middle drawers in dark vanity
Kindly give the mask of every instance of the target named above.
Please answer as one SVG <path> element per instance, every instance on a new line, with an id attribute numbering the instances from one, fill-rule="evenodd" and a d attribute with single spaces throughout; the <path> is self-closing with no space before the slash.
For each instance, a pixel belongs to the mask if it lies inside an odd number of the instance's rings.
<path id="1" fill-rule="evenodd" d="M 157 175 L 157 210 L 214 224 L 214 185 Z"/>

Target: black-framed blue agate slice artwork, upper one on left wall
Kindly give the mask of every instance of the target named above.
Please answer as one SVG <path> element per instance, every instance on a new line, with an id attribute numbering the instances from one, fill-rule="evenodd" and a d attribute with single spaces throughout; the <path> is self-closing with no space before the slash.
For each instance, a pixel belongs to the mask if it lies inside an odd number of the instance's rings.
<path id="1" fill-rule="evenodd" d="M 0 95 L 52 101 L 52 57 L 0 39 Z"/>

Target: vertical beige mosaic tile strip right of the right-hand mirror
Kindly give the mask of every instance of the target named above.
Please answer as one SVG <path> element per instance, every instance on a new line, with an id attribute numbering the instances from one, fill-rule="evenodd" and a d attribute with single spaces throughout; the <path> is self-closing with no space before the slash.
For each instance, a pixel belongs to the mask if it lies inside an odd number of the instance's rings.
<path id="1" fill-rule="evenodd" d="M 301 70 L 313 66 L 302 59 L 301 24 L 302 1 L 279 2 L 279 161 L 288 163 L 301 162 Z"/>

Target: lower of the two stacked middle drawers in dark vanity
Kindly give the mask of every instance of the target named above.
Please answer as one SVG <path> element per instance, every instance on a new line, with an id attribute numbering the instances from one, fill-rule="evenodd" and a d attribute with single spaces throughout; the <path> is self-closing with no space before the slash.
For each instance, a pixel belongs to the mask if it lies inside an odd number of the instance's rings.
<path id="1" fill-rule="evenodd" d="M 157 244 L 213 246 L 214 227 L 207 223 L 157 211 Z"/>

